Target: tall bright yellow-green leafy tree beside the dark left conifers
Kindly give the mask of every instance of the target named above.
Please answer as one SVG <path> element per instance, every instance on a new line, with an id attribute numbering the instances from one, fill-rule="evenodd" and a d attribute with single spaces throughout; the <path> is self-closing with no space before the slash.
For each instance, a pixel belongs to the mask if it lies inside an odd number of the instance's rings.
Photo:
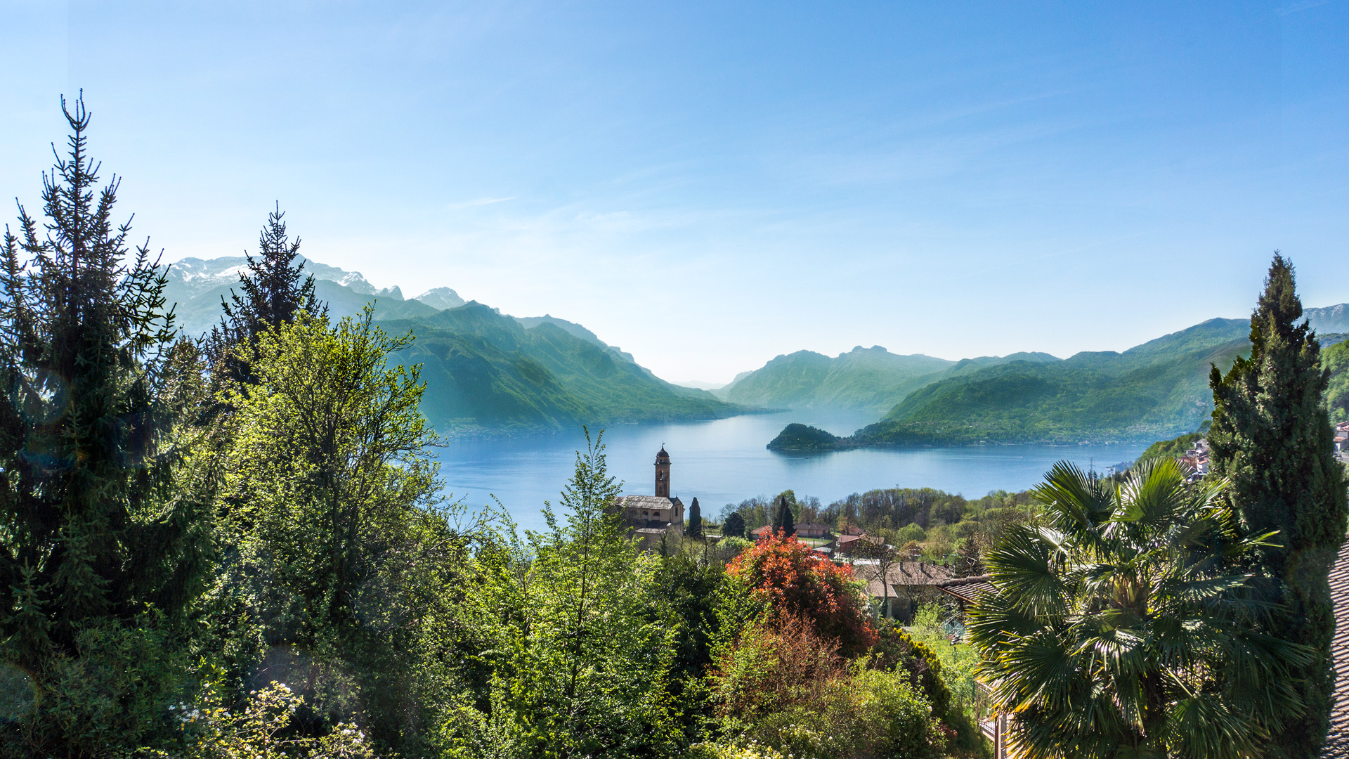
<path id="1" fill-rule="evenodd" d="M 298 723 L 359 720 L 415 754 L 438 723 L 429 678 L 453 642 L 432 633 L 467 593 L 467 538 L 440 508 L 417 367 L 387 365 L 409 340 L 374 327 L 370 307 L 259 335 L 255 390 L 228 398 L 232 548 L 214 617 L 233 624 L 219 650 L 244 690 L 290 683 L 309 705 Z"/>

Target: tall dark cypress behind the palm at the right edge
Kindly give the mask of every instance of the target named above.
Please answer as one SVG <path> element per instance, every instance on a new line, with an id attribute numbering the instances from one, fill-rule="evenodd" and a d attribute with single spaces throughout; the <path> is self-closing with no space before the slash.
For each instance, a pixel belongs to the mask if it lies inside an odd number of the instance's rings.
<path id="1" fill-rule="evenodd" d="M 1322 401 L 1329 375 L 1319 352 L 1315 332 L 1302 320 L 1292 265 L 1276 251 L 1251 316 L 1251 357 L 1238 358 L 1226 375 L 1211 370 L 1209 429 L 1213 470 L 1232 479 L 1245 528 L 1279 531 L 1279 546 L 1261 551 L 1261 569 L 1280 601 L 1272 632 L 1314 651 L 1294 681 L 1306 713 L 1272 737 L 1272 756 L 1319 750 L 1334 685 L 1327 574 L 1345 538 L 1346 502 Z"/>

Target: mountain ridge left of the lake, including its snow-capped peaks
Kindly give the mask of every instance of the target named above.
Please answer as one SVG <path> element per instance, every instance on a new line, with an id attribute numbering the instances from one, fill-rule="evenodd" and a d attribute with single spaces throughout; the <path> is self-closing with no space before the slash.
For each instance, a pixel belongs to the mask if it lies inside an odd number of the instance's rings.
<path id="1" fill-rule="evenodd" d="M 243 257 L 183 259 L 166 296 L 178 325 L 201 335 L 220 321 L 221 297 L 239 284 Z M 553 316 L 514 317 L 436 288 L 406 300 L 360 273 L 313 261 L 318 300 L 333 319 L 372 304 L 375 320 L 413 344 L 394 362 L 421 365 L 421 411 L 441 434 L 553 432 L 581 424 L 719 419 L 745 409 L 706 390 L 670 385 L 585 327 Z M 424 298 L 424 300 L 422 300 Z M 437 308 L 437 304 L 455 304 Z"/>

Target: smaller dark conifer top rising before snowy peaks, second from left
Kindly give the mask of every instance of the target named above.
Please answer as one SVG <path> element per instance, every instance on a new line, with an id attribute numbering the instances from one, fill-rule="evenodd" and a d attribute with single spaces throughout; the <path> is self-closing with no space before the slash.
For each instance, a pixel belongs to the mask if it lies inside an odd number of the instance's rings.
<path id="1" fill-rule="evenodd" d="M 299 257 L 299 238 L 286 234 L 281 204 L 267 215 L 267 226 L 258 235 L 258 258 L 246 253 L 248 273 L 240 271 L 239 289 L 231 290 L 229 300 L 220 298 L 224 316 L 206 339 L 208 352 L 217 371 L 243 385 L 256 384 L 247 361 L 235 348 L 256 348 L 258 336 L 267 331 L 293 324 L 299 311 L 326 319 L 328 307 L 314 294 L 313 276 L 305 277 L 305 262 Z"/>

